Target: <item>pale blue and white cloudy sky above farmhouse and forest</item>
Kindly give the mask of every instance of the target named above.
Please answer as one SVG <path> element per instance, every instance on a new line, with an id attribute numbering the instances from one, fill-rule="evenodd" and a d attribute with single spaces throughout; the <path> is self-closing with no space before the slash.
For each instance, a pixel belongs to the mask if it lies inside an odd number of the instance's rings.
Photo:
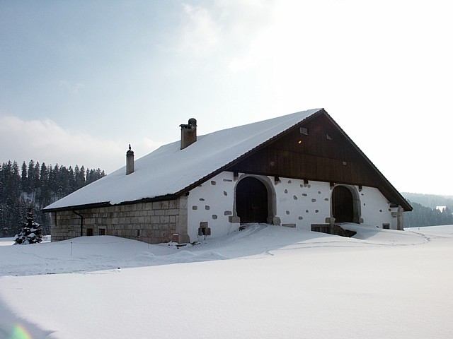
<path id="1" fill-rule="evenodd" d="M 110 173 L 325 108 L 399 191 L 453 195 L 450 1 L 2 1 L 0 161 Z"/>

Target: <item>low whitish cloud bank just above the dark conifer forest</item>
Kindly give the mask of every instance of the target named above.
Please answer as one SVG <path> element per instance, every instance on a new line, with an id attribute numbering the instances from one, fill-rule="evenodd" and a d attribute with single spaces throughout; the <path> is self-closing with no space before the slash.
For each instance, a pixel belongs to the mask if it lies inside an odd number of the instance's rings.
<path id="1" fill-rule="evenodd" d="M 127 141 L 75 133 L 50 119 L 22 120 L 8 115 L 0 116 L 0 141 L 1 162 L 16 160 L 21 165 L 33 159 L 47 165 L 99 167 L 107 173 L 125 165 L 127 150 Z M 130 143 L 136 159 L 160 145 L 147 138 L 132 138 Z"/>

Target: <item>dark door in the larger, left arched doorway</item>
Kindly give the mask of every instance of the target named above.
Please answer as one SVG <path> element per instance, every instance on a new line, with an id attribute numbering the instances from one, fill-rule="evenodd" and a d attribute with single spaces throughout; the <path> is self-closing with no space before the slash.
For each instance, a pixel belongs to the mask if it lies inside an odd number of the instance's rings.
<path id="1" fill-rule="evenodd" d="M 241 224 L 247 222 L 267 222 L 268 189 L 254 177 L 241 179 L 236 186 L 236 213 Z"/>

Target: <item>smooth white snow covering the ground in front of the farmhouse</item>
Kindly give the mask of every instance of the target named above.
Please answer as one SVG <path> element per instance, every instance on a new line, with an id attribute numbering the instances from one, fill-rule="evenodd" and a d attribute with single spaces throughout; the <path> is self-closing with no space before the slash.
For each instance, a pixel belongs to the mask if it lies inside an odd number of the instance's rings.
<path id="1" fill-rule="evenodd" d="M 348 228 L 0 246 L 0 338 L 453 338 L 453 226 Z"/>

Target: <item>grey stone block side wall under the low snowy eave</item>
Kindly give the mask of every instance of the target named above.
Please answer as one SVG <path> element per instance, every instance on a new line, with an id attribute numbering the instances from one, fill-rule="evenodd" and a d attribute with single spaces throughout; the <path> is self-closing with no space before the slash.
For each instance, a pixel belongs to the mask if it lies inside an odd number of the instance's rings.
<path id="1" fill-rule="evenodd" d="M 114 235 L 151 244 L 188 241 L 187 197 L 129 205 L 76 210 L 85 235 Z M 52 242 L 81 235 L 81 217 L 72 210 L 52 213 Z M 178 234 L 175 237 L 173 234 Z"/>

